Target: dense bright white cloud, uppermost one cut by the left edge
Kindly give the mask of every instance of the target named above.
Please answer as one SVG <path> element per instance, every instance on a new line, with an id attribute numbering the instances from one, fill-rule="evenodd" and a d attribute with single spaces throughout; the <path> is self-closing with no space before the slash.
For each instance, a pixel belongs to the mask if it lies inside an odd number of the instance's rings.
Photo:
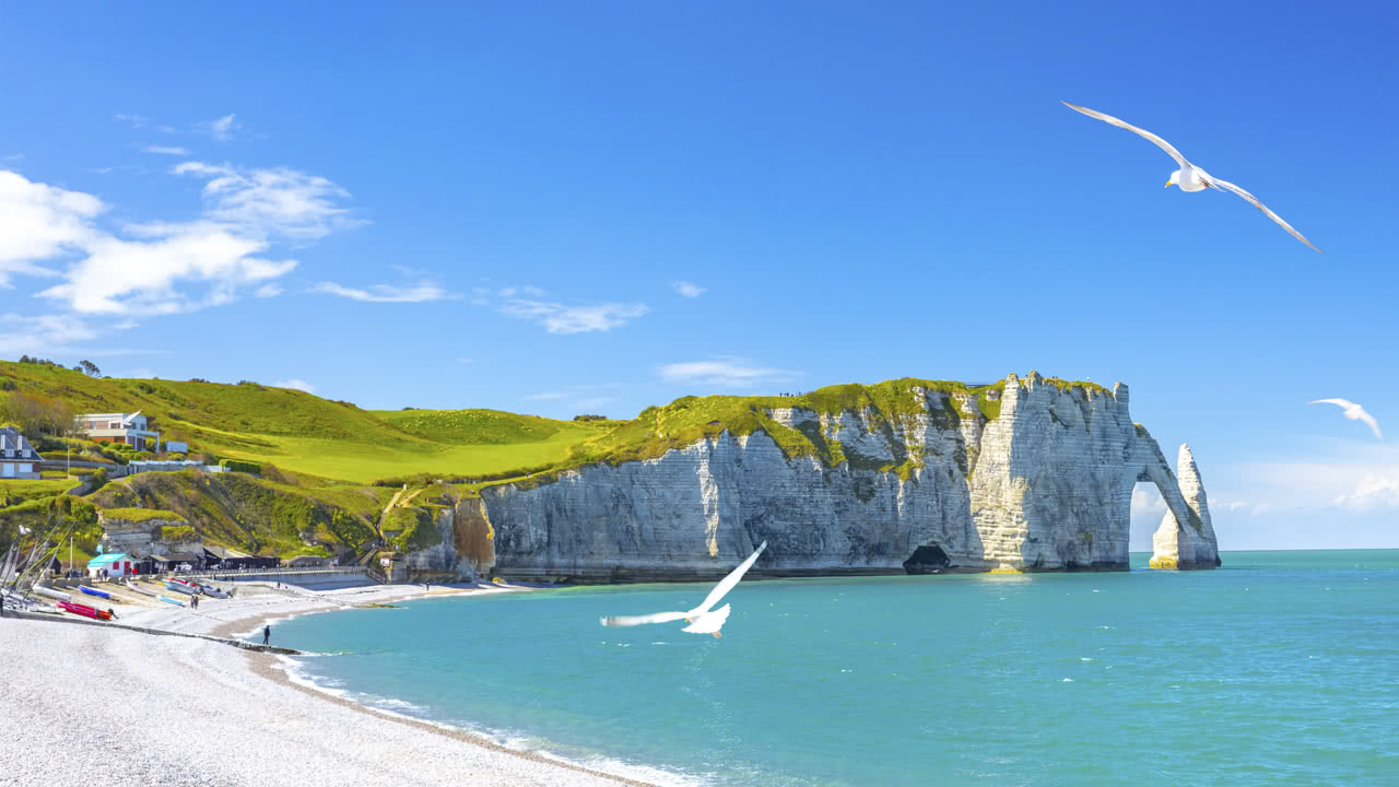
<path id="1" fill-rule="evenodd" d="M 56 276 L 36 263 L 78 251 L 98 238 L 101 232 L 92 223 L 105 210 L 92 195 L 0 171 L 0 287 L 10 287 L 14 273 Z"/>

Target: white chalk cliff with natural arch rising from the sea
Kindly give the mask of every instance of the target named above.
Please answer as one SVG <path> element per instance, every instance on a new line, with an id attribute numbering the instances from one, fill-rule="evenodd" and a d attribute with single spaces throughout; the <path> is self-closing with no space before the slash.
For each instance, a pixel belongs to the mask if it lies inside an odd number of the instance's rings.
<path id="1" fill-rule="evenodd" d="M 761 430 L 720 431 L 655 459 L 485 489 L 497 571 L 712 578 L 762 541 L 754 571 L 768 576 L 1125 570 L 1137 482 L 1160 489 L 1177 522 L 1163 524 L 1171 538 L 1157 535 L 1157 564 L 1217 563 L 1189 451 L 1182 483 L 1132 422 L 1126 385 L 1010 375 L 995 417 L 967 394 L 912 394 L 919 408 L 897 417 L 769 412 L 838 458 L 830 464 L 788 457 Z"/>

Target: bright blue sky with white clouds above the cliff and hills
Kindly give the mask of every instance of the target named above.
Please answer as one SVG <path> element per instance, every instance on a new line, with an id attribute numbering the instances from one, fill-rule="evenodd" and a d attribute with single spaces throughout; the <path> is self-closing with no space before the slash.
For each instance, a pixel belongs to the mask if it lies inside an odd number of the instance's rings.
<path id="1" fill-rule="evenodd" d="M 1223 548 L 1399 546 L 1399 451 L 1305 405 L 1399 424 L 1395 10 L 466 6 L 7 7 L 0 357 L 557 417 L 1122 379 Z"/>

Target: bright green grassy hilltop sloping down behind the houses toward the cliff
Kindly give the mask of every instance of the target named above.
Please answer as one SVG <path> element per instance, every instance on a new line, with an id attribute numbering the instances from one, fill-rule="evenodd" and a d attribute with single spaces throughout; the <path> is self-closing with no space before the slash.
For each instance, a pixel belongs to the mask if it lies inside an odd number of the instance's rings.
<path id="1" fill-rule="evenodd" d="M 0 399 L 13 392 L 62 399 L 80 413 L 141 410 L 166 440 L 196 451 L 353 482 L 523 473 L 609 429 L 494 410 L 371 412 L 253 382 L 92 378 L 0 361 Z"/>

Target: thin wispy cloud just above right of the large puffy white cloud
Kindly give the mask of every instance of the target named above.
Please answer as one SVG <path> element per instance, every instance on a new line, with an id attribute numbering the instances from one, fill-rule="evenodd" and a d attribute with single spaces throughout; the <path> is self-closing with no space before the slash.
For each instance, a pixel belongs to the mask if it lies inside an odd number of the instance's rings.
<path id="1" fill-rule="evenodd" d="M 172 172 L 208 178 L 203 190 L 204 217 L 246 234 L 313 241 L 364 224 L 337 203 L 348 199 L 350 192 L 298 169 L 239 169 L 186 161 Z"/>

